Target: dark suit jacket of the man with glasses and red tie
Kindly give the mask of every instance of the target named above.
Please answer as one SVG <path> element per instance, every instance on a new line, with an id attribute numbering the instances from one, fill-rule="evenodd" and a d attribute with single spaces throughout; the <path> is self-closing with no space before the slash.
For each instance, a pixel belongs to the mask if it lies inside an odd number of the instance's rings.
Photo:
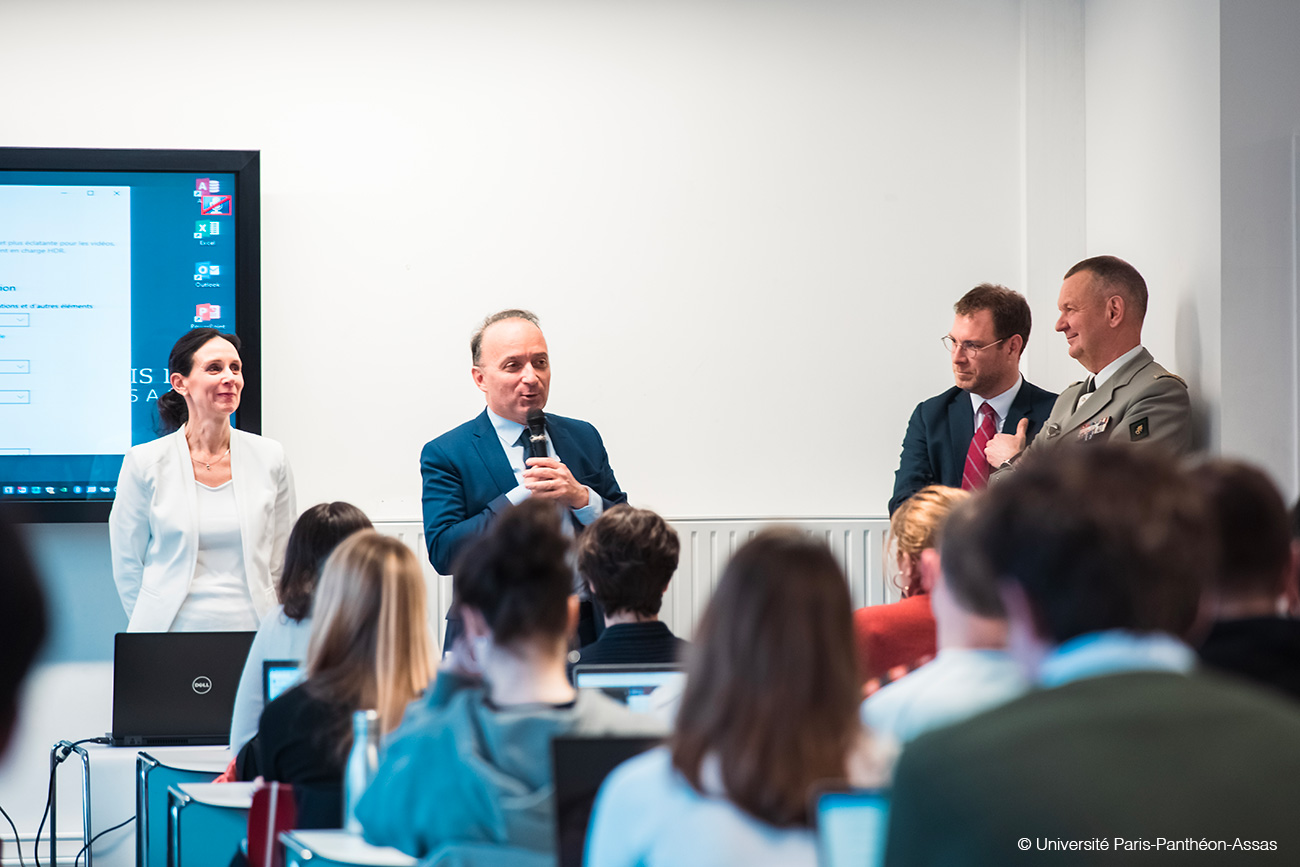
<path id="1" fill-rule="evenodd" d="M 1020 419 L 1030 420 L 1026 445 L 1031 442 L 1043 422 L 1052 415 L 1056 394 L 1045 391 L 1026 380 L 1011 402 L 1002 424 L 1002 433 L 1015 433 Z M 953 386 L 939 396 L 916 404 L 902 438 L 902 458 L 894 473 L 894 493 L 889 498 L 889 513 L 926 485 L 962 486 L 966 452 L 975 435 L 975 411 L 970 393 Z"/>

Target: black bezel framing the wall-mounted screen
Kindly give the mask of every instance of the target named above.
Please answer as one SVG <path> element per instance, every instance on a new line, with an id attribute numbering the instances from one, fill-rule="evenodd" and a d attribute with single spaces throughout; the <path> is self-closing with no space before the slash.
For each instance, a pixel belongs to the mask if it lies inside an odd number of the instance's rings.
<path id="1" fill-rule="evenodd" d="M 113 148 L 0 147 L 0 170 L 172 172 L 235 175 L 235 333 L 243 344 L 243 394 L 235 426 L 261 433 L 261 169 L 260 151 L 153 151 Z M 84 524 L 108 520 L 112 500 L 40 499 L 4 503 L 23 524 Z"/>

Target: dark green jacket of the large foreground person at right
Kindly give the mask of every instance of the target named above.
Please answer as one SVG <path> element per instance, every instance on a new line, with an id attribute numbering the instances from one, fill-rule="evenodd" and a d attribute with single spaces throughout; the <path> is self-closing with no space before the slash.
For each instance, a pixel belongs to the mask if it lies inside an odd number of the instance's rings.
<path id="1" fill-rule="evenodd" d="M 1089 677 L 911 741 L 894 772 L 885 863 L 1294 863 L 1297 803 L 1292 702 L 1205 673 Z M 1277 850 L 1117 851 L 1115 837 Z M 1109 849 L 1040 848 L 1095 838 Z"/>

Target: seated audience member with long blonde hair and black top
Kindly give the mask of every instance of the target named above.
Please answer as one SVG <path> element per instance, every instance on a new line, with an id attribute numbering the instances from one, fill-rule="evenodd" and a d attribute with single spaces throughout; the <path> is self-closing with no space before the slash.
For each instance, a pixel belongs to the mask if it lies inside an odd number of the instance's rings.
<path id="1" fill-rule="evenodd" d="M 321 571 L 307 677 L 261 712 L 243 779 L 292 784 L 300 828 L 339 827 L 352 712 L 378 711 L 380 731 L 395 729 L 429 684 L 430 646 L 415 554 L 374 530 L 350 536 Z"/>

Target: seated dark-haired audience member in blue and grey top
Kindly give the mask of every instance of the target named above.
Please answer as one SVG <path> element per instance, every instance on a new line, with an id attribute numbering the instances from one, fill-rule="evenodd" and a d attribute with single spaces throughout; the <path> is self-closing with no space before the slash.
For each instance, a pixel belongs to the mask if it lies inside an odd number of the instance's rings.
<path id="1" fill-rule="evenodd" d="M 664 728 L 564 669 L 578 599 L 554 503 L 502 515 L 454 569 L 463 633 L 358 806 L 372 844 L 430 861 L 467 845 L 552 857 L 551 738 Z"/>

